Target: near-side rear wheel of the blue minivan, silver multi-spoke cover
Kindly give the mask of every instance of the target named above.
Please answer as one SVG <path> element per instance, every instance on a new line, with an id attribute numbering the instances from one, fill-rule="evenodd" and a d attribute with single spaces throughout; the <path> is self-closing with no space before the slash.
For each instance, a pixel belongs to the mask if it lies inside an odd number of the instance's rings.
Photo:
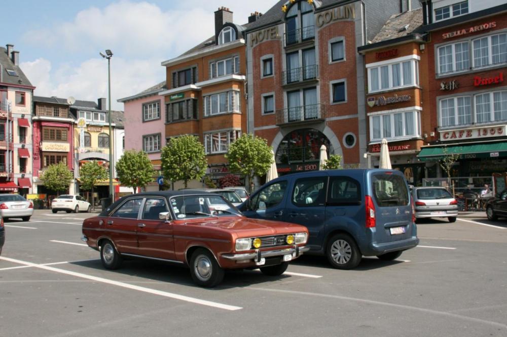
<path id="1" fill-rule="evenodd" d="M 329 240 L 326 256 L 336 269 L 355 268 L 362 257 L 354 239 L 347 234 L 336 234 Z"/>

